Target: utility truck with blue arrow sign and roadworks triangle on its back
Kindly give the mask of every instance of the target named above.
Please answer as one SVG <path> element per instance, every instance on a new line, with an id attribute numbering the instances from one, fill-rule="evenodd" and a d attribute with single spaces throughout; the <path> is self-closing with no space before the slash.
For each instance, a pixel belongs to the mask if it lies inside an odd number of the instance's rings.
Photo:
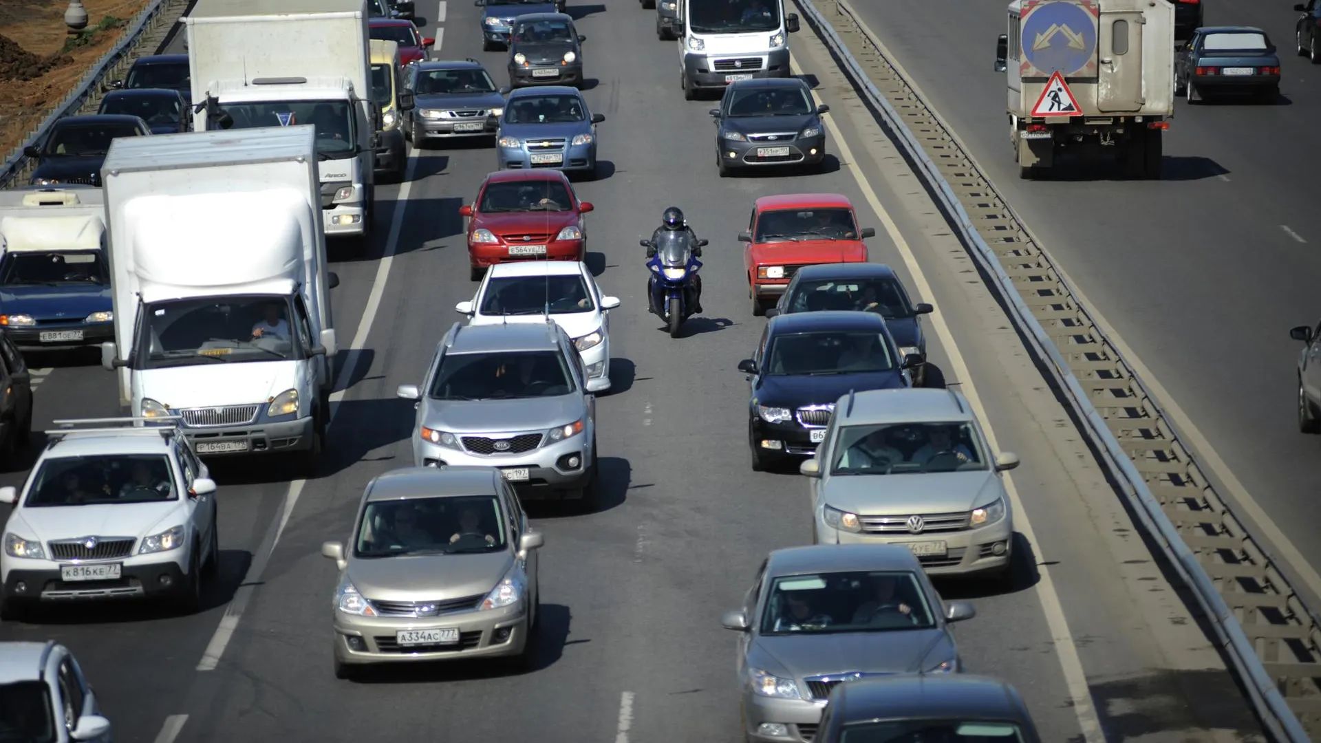
<path id="1" fill-rule="evenodd" d="M 1112 151 L 1132 178 L 1160 178 L 1174 114 L 1174 7 L 1165 0 L 1013 0 L 996 42 L 1008 75 L 1018 176 L 1055 155 Z"/>

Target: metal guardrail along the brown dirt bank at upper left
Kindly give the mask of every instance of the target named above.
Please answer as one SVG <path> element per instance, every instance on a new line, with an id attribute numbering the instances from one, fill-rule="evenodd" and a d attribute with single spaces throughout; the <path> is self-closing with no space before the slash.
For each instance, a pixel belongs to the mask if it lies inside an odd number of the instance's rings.
<path id="1" fill-rule="evenodd" d="M 141 57 L 144 52 L 148 54 L 156 53 L 157 45 L 164 41 L 164 37 L 178 22 L 188 5 L 189 0 L 152 0 L 147 8 L 133 16 L 128 29 L 119 37 L 115 46 L 87 69 L 87 73 L 78 81 L 77 87 L 52 108 L 50 114 L 37 124 L 37 128 L 28 132 L 28 136 L 24 137 L 22 144 L 17 149 L 9 153 L 4 167 L 0 168 L 0 188 L 26 185 L 24 176 L 30 173 L 33 165 L 30 157 L 22 153 L 24 148 L 41 141 L 46 135 L 46 130 L 58 119 L 82 114 L 87 107 L 92 110 L 86 112 L 94 112 L 100 106 L 102 85 L 107 79 L 115 79 L 127 74 L 128 66 L 137 57 Z M 153 33 L 162 29 L 164 36 Z"/>

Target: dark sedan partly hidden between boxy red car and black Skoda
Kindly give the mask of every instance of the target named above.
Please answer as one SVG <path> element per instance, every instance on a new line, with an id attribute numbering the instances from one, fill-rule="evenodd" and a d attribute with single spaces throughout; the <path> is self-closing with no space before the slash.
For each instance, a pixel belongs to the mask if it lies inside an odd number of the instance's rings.
<path id="1" fill-rule="evenodd" d="M 885 317 L 885 325 L 900 346 L 900 353 L 922 358 L 914 370 L 918 386 L 926 383 L 926 336 L 922 333 L 922 315 L 934 311 L 930 304 L 909 300 L 894 270 L 884 263 L 822 263 L 804 266 L 794 274 L 785 293 L 766 317 L 795 312 L 828 309 L 855 309 L 876 312 Z"/>

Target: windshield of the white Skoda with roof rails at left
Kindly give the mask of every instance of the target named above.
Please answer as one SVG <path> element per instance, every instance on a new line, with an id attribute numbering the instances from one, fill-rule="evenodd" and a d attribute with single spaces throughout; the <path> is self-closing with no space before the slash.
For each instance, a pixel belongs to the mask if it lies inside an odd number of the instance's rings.
<path id="1" fill-rule="evenodd" d="M 159 453 L 46 459 L 24 508 L 145 504 L 176 500 L 169 459 Z"/>

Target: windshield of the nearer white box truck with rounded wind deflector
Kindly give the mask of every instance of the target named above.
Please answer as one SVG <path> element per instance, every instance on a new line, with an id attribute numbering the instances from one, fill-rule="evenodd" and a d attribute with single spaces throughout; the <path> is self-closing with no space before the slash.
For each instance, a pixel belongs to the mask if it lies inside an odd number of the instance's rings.
<path id="1" fill-rule="evenodd" d="M 137 369 L 284 361 L 303 357 L 310 327 L 287 296 L 157 301 L 143 308 Z"/>

